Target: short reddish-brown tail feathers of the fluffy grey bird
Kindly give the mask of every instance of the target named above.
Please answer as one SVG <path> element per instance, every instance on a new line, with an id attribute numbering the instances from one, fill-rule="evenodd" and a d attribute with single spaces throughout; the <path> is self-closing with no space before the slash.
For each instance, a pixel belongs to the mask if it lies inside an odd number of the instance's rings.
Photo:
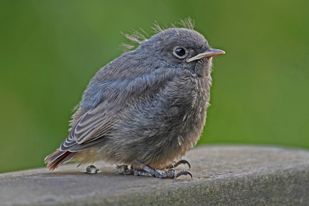
<path id="1" fill-rule="evenodd" d="M 78 152 L 60 151 L 58 149 L 56 152 L 47 156 L 44 161 L 47 163 L 47 168 L 49 170 L 55 170 L 60 165 L 72 160 L 77 153 Z"/>

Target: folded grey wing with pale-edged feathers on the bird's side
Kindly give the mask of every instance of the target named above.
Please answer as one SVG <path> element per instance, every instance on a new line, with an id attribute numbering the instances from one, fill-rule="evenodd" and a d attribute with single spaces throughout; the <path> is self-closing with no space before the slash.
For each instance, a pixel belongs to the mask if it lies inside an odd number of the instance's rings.
<path id="1" fill-rule="evenodd" d="M 155 96 L 167 82 L 175 77 L 173 69 L 157 68 L 134 79 L 123 79 L 115 86 L 110 96 L 88 110 L 73 125 L 70 135 L 60 146 L 61 151 L 76 152 L 104 144 L 111 124 L 120 110 L 134 99 Z M 121 89 L 120 89 L 121 88 Z M 115 92 L 118 91 L 118 92 Z"/>

